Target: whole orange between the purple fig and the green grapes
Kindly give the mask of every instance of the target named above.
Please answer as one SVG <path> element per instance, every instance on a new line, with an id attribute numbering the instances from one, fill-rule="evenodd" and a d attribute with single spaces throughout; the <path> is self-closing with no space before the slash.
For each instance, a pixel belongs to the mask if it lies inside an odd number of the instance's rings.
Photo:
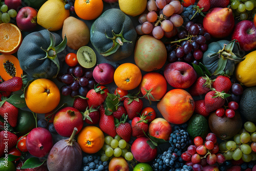
<path id="1" fill-rule="evenodd" d="M 88 154 L 97 153 L 104 145 L 103 132 L 96 126 L 86 126 L 80 131 L 77 143 L 82 151 Z"/>

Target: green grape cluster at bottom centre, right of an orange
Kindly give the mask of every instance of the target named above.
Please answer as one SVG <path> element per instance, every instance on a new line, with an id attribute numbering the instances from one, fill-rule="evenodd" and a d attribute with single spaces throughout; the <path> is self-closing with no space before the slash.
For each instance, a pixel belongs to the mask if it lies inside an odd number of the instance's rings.
<path id="1" fill-rule="evenodd" d="M 133 160 L 129 143 L 126 143 L 119 135 L 116 135 L 114 138 L 111 136 L 105 137 L 105 143 L 101 151 L 101 161 L 108 161 L 113 155 L 115 157 L 122 156 L 127 161 Z"/>

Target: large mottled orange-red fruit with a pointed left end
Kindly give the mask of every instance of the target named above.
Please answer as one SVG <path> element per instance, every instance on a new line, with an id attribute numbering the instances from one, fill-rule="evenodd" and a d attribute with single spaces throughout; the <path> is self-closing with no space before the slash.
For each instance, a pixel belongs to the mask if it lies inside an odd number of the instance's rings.
<path id="1" fill-rule="evenodd" d="M 193 115 L 195 102 L 187 91 L 173 89 L 157 103 L 157 109 L 168 122 L 182 124 Z"/>

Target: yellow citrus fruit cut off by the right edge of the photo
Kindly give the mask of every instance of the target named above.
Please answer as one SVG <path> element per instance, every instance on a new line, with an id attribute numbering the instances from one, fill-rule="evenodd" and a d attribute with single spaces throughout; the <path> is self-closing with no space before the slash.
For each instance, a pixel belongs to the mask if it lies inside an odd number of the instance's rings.
<path id="1" fill-rule="evenodd" d="M 236 66 L 236 77 L 246 87 L 256 86 L 256 51 L 246 55 L 246 58 Z"/>

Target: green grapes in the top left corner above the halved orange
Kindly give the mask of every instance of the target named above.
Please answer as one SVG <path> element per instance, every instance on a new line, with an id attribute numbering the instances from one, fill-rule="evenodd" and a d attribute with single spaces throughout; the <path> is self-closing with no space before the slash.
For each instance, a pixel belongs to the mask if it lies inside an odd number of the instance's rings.
<path id="1" fill-rule="evenodd" d="M 17 11 L 14 9 L 8 10 L 8 6 L 1 2 L 1 12 L 0 12 L 0 24 L 9 23 L 11 17 L 14 18 L 17 15 Z"/>

